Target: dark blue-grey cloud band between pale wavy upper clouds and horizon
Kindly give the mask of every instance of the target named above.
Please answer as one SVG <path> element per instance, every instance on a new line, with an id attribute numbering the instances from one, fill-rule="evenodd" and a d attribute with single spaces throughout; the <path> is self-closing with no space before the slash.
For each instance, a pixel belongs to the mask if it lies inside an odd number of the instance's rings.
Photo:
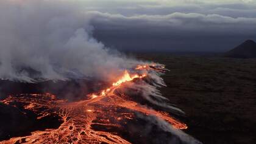
<path id="1" fill-rule="evenodd" d="M 123 16 L 88 12 L 94 36 L 125 51 L 224 52 L 256 39 L 256 18 L 199 13 Z"/>

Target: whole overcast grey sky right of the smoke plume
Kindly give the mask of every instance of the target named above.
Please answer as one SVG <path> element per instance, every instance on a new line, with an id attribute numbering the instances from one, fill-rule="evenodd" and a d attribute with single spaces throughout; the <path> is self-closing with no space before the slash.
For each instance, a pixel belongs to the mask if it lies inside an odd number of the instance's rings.
<path id="1" fill-rule="evenodd" d="M 225 52 L 256 40 L 256 0 L 80 0 L 93 35 L 126 51 Z"/>

